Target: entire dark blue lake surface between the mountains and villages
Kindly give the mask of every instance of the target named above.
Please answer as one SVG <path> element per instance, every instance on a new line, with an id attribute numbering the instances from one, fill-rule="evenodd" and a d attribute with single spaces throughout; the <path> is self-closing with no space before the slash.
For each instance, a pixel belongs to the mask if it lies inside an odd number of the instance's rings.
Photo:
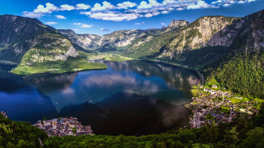
<path id="1" fill-rule="evenodd" d="M 106 70 L 15 75 L 0 65 L 0 111 L 11 120 L 73 116 L 95 134 L 143 135 L 189 121 L 194 71 L 151 61 L 95 61 Z"/>

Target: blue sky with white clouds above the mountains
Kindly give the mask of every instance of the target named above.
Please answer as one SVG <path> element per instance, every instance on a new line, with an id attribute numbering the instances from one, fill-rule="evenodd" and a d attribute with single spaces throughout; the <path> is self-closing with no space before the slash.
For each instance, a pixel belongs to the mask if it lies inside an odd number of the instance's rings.
<path id="1" fill-rule="evenodd" d="M 2 0 L 0 15 L 37 18 L 56 29 L 102 36 L 116 30 L 162 28 L 172 20 L 202 16 L 244 17 L 264 0 Z"/>

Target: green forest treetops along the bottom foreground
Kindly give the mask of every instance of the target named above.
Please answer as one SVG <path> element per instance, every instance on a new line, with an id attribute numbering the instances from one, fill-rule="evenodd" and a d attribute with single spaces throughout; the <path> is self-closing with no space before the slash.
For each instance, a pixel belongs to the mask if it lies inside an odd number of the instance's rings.
<path id="1" fill-rule="evenodd" d="M 200 129 L 168 130 L 166 133 L 136 136 L 84 135 L 47 137 L 28 122 L 11 121 L 0 115 L 1 148 L 262 148 L 264 147 L 264 102 L 251 118 L 238 116 L 230 123 L 211 124 Z"/>

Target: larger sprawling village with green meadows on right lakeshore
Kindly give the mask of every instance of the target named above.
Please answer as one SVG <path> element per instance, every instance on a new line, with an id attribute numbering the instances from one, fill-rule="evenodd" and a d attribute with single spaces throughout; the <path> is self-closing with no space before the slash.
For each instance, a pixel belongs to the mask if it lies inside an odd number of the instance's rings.
<path id="1" fill-rule="evenodd" d="M 196 97 L 187 104 L 192 111 L 190 122 L 185 128 L 200 128 L 215 121 L 231 122 L 238 114 L 253 115 L 258 112 L 257 107 L 263 101 L 258 98 L 236 97 L 233 93 L 225 91 L 225 88 L 219 88 L 212 85 L 207 88 L 202 85 L 194 86 L 192 93 Z"/>

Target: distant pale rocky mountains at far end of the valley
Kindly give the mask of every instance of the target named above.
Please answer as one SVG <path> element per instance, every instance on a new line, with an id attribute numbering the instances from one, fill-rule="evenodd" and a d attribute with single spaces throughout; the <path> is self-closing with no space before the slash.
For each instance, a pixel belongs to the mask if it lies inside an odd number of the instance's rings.
<path id="1" fill-rule="evenodd" d="M 119 53 L 126 50 L 128 46 L 139 37 L 147 34 L 162 34 L 188 24 L 189 22 L 187 21 L 173 20 L 168 27 L 163 27 L 162 29 L 148 28 L 145 30 L 120 30 L 105 34 L 102 37 L 95 34 L 77 34 L 70 29 L 58 29 L 58 31 L 86 50 Z"/>

